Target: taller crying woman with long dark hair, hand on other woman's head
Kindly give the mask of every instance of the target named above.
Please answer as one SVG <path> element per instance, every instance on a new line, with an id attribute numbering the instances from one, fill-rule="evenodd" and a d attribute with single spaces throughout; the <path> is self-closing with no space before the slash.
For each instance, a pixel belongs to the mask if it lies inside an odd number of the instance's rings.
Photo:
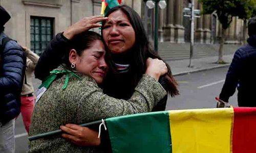
<path id="1" fill-rule="evenodd" d="M 146 72 L 147 58 L 162 59 L 151 48 L 141 19 L 131 7 L 117 6 L 112 8 L 105 17 L 107 18 L 103 20 L 102 26 L 97 25 L 102 27 L 102 38 L 110 50 L 110 71 L 102 85 L 103 92 L 115 98 L 127 100 L 132 96 L 134 88 Z M 99 22 L 97 18 L 83 18 L 65 32 L 57 34 L 40 57 L 36 66 L 35 77 L 43 80 L 46 74 L 59 64 L 59 57 L 63 54 L 61 50 L 69 47 L 72 38 L 83 32 L 89 23 L 94 23 L 96 27 L 95 23 L 97 22 Z M 54 61 L 48 63 L 51 59 Z M 160 77 L 159 83 L 173 97 L 179 94 L 178 84 L 170 67 L 167 63 L 165 64 L 167 74 Z M 151 111 L 164 111 L 166 102 L 167 95 Z M 61 126 L 61 130 L 67 133 L 62 136 L 75 144 L 91 145 L 93 142 L 91 138 L 87 138 L 90 131 L 87 127 L 68 124 Z"/>

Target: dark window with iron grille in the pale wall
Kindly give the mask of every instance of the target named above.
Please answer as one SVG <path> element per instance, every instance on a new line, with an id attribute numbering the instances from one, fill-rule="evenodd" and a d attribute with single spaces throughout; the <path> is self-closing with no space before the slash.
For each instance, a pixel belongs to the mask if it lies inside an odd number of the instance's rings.
<path id="1" fill-rule="evenodd" d="M 53 21 L 49 17 L 30 17 L 30 48 L 39 56 L 53 38 Z"/>

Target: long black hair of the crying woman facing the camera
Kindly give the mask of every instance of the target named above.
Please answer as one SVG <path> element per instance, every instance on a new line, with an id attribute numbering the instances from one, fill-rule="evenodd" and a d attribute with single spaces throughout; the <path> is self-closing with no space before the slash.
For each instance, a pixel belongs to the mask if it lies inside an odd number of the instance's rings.
<path id="1" fill-rule="evenodd" d="M 111 13 L 115 11 L 122 11 L 124 14 L 127 15 L 129 18 L 132 27 L 135 31 L 135 43 L 134 46 L 129 50 L 129 52 L 132 53 L 132 62 L 130 63 L 130 70 L 134 74 L 133 76 L 133 83 L 134 87 L 138 84 L 139 80 L 141 79 L 142 75 L 146 71 L 146 60 L 148 57 L 150 58 L 157 58 L 159 60 L 163 60 L 154 50 L 152 49 L 151 43 L 148 40 L 148 37 L 146 35 L 145 29 L 143 27 L 143 23 L 141 21 L 140 16 L 138 13 L 133 10 L 131 7 L 127 5 L 119 5 L 111 10 L 105 15 L 105 17 L 108 17 Z M 104 27 L 105 21 L 102 22 L 102 27 Z M 102 31 L 104 28 L 102 28 Z M 101 31 L 101 33 L 102 33 Z M 165 90 L 173 97 L 175 95 L 179 94 L 179 90 L 177 88 L 178 83 L 174 79 L 172 75 L 172 71 L 170 70 L 170 66 L 165 62 L 168 72 L 166 75 L 164 75 L 165 80 Z M 162 77 L 163 78 L 163 77 Z M 161 78 L 160 78 L 161 79 Z"/>

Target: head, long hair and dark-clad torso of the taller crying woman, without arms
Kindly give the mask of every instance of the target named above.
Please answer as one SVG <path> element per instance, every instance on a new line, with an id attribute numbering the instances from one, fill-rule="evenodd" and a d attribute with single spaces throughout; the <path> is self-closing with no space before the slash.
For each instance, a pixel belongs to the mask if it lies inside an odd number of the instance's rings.
<path id="1" fill-rule="evenodd" d="M 101 33 L 110 50 L 114 70 L 107 76 L 103 89 L 113 97 L 129 99 L 146 70 L 146 59 L 163 59 L 150 46 L 141 18 L 131 7 L 114 7 L 105 17 L 108 20 L 102 22 Z M 159 83 L 173 97 L 179 94 L 178 84 L 166 65 L 168 73 L 160 78 Z M 167 95 L 153 111 L 164 111 L 166 101 Z"/>

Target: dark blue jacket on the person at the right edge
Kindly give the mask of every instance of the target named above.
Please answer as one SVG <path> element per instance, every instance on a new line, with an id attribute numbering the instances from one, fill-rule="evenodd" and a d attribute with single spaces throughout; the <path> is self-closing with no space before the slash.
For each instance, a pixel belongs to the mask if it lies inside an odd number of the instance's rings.
<path id="1" fill-rule="evenodd" d="M 232 63 L 226 74 L 226 80 L 220 93 L 220 99 L 227 101 L 236 91 L 239 83 L 238 106 L 256 107 L 255 90 L 256 87 L 256 36 L 251 36 L 247 40 L 246 46 L 240 47 L 232 59 Z"/>

